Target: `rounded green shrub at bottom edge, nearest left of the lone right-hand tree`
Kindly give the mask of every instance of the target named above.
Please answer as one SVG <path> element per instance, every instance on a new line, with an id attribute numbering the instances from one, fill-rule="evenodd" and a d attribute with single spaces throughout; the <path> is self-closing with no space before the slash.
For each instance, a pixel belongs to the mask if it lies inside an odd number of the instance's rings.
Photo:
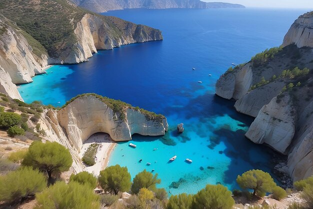
<path id="1" fill-rule="evenodd" d="M 192 209 L 230 209 L 234 204 L 231 191 L 225 186 L 207 184 L 193 196 Z"/>

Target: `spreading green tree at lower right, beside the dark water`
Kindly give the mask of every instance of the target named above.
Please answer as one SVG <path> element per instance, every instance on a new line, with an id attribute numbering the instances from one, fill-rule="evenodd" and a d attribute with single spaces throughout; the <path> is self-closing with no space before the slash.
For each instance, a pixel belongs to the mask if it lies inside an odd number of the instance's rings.
<path id="1" fill-rule="evenodd" d="M 242 189 L 252 189 L 253 195 L 264 196 L 276 186 L 274 179 L 262 170 L 248 170 L 236 179 Z"/>

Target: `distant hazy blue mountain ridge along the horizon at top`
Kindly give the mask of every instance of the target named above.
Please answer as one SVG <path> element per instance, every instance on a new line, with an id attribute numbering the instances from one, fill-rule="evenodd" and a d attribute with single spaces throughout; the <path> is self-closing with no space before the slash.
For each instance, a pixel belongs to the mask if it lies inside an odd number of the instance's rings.
<path id="1" fill-rule="evenodd" d="M 244 8 L 242 5 L 222 2 L 201 2 L 199 0 L 71 0 L 76 5 L 93 12 L 134 8 L 146 9 L 205 9 L 205 8 Z"/>

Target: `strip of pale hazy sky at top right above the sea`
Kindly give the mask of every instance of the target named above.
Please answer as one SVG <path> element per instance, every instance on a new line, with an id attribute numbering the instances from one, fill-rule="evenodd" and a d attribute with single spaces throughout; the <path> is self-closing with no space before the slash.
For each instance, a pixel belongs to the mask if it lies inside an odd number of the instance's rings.
<path id="1" fill-rule="evenodd" d="M 304 8 L 313 9 L 313 0 L 223 0 L 203 2 L 227 2 L 241 4 L 246 7 L 266 7 L 266 8 Z"/>

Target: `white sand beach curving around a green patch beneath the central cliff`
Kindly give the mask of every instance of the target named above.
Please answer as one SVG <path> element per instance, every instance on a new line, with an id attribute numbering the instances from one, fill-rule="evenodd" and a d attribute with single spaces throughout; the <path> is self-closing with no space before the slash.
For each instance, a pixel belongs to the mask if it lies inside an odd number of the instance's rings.
<path id="1" fill-rule="evenodd" d="M 95 164 L 92 166 L 86 166 L 85 171 L 98 176 L 100 171 L 103 170 L 108 162 L 108 158 L 111 150 L 115 146 L 115 143 L 111 140 L 110 136 L 106 133 L 95 133 L 91 135 L 83 144 L 79 153 L 79 157 L 82 158 L 84 152 L 87 150 L 90 144 L 97 143 L 97 153 L 95 155 Z"/>

